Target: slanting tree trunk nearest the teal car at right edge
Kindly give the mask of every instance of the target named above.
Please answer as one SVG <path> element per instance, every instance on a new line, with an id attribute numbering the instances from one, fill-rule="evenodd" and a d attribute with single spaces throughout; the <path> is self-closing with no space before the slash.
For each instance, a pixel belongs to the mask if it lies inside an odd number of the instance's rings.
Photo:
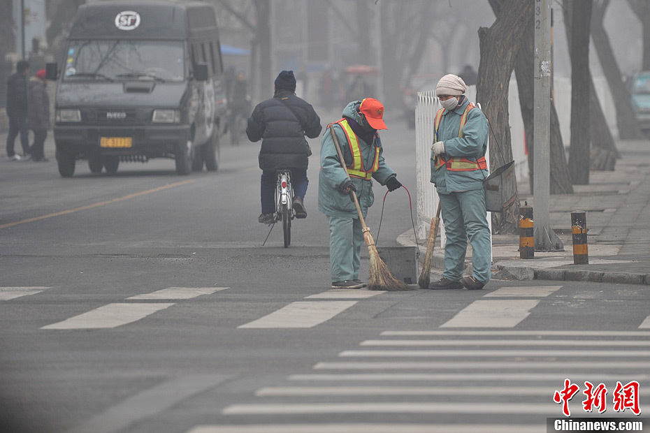
<path id="1" fill-rule="evenodd" d="M 637 140 L 644 138 L 644 136 L 635 116 L 632 101 L 630 100 L 630 92 L 623 84 L 623 80 L 621 80 L 621 69 L 619 64 L 616 63 L 612 45 L 609 43 L 609 36 L 607 36 L 607 31 L 605 31 L 602 24 L 607 6 L 609 6 L 609 0 L 593 1 L 591 37 L 600 59 L 600 66 L 602 66 L 602 71 L 605 73 L 605 78 L 607 78 L 612 98 L 614 98 L 619 137 L 623 140 Z"/>

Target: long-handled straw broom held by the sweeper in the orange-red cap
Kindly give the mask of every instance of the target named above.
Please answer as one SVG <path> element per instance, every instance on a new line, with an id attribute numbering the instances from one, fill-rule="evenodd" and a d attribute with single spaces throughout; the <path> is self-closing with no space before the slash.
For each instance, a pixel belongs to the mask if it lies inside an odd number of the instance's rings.
<path id="1" fill-rule="evenodd" d="M 338 138 L 334 133 L 334 129 L 330 126 L 330 132 L 332 133 L 332 138 L 334 140 L 334 146 L 336 147 L 336 153 L 338 158 L 341 161 L 341 166 L 345 170 L 345 175 L 349 178 L 347 173 L 347 167 L 345 166 L 345 159 L 343 159 L 343 153 L 341 152 L 341 147 L 338 144 Z M 377 252 L 377 247 L 375 247 L 375 240 L 373 240 L 373 235 L 370 234 L 370 228 L 366 226 L 366 220 L 363 219 L 363 214 L 361 212 L 361 206 L 359 205 L 359 199 L 356 198 L 356 193 L 352 192 L 352 198 L 354 200 L 354 205 L 356 206 L 356 212 L 359 214 L 359 221 L 361 221 L 361 226 L 363 227 L 363 239 L 366 240 L 366 245 L 368 245 L 368 253 L 370 254 L 370 277 L 368 277 L 368 290 L 380 290 L 380 291 L 407 291 L 413 290 L 402 281 L 399 281 L 391 271 L 382 258 Z"/>

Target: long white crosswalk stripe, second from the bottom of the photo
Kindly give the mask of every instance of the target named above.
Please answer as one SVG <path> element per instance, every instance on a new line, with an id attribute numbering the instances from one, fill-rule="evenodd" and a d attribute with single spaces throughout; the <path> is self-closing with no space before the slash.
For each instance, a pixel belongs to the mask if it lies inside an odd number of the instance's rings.
<path id="1" fill-rule="evenodd" d="M 318 404 L 231 404 L 224 415 L 272 415 L 307 413 L 489 413 L 512 415 L 548 415 L 557 411 L 554 403 L 479 403 L 459 404 L 448 402 L 370 402 L 370 403 L 318 403 Z"/>

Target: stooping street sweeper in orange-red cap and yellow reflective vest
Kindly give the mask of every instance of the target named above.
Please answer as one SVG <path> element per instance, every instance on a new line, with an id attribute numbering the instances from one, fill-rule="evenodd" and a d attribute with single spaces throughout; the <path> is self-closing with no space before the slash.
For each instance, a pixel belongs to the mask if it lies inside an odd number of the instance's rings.
<path id="1" fill-rule="evenodd" d="M 356 191 L 363 217 L 373 205 L 373 178 L 395 191 L 402 184 L 384 161 L 379 129 L 384 124 L 384 105 L 373 98 L 352 101 L 343 109 L 343 118 L 330 124 L 321 143 L 318 210 L 327 216 L 330 230 L 329 256 L 332 288 L 361 288 L 360 253 L 363 244 L 361 221 L 352 199 Z M 349 177 L 341 166 L 330 128 L 340 145 Z"/>

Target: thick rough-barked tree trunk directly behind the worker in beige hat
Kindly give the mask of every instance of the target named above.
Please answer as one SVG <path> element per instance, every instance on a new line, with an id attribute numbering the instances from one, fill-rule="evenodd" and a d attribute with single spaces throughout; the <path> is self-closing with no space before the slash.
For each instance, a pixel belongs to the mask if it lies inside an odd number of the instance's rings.
<path id="1" fill-rule="evenodd" d="M 512 161 L 510 125 L 508 123 L 508 87 L 510 76 L 521 45 L 526 26 L 533 25 L 533 1 L 489 0 L 496 21 L 488 29 L 479 29 L 481 61 L 477 83 L 477 102 L 488 118 L 492 135 L 490 140 L 490 168 Z M 517 191 L 517 179 L 512 177 L 512 189 Z M 494 233 L 517 233 L 519 230 L 519 195 L 514 205 L 493 213 Z"/>

